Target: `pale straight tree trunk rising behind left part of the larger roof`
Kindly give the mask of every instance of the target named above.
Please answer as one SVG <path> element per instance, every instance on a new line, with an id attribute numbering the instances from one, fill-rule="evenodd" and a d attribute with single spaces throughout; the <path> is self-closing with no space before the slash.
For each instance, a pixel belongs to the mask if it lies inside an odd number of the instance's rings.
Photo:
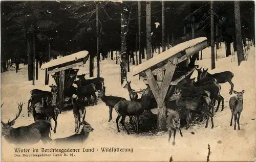
<path id="1" fill-rule="evenodd" d="M 151 2 L 146 1 L 146 60 L 152 58 L 151 49 Z"/>

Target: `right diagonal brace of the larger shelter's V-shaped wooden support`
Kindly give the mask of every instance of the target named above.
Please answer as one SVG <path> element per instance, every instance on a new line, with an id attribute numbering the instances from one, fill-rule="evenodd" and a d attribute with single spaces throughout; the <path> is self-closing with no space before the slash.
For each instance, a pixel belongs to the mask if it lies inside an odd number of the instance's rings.
<path id="1" fill-rule="evenodd" d="M 174 71 L 176 69 L 177 62 L 178 62 L 178 58 L 174 58 L 172 60 L 169 60 L 167 63 L 168 68 L 165 71 L 163 83 L 161 86 L 159 107 L 163 106 L 163 102 L 164 102 L 166 93 L 168 91 L 170 82 L 172 82 L 172 78 L 174 75 Z"/>

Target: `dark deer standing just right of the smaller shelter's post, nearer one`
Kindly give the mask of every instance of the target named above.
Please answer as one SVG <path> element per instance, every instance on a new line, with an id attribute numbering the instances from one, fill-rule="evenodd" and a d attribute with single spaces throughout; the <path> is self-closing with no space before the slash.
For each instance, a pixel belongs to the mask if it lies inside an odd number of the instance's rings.
<path id="1" fill-rule="evenodd" d="M 94 97 L 95 105 L 97 105 L 97 97 L 96 97 L 96 85 L 95 84 L 87 84 L 86 86 L 81 85 L 81 80 L 76 80 L 74 84 L 77 85 L 77 96 L 79 101 L 82 101 L 83 97 L 88 98 L 88 105 L 90 104 L 91 96 Z M 94 105 L 93 102 L 93 105 Z"/>

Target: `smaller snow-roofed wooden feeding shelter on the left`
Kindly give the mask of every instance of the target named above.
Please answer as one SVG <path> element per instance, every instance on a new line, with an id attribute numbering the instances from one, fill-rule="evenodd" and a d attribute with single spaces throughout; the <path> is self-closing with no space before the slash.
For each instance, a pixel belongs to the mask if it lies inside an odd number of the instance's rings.
<path id="1" fill-rule="evenodd" d="M 45 84 L 48 85 L 49 83 L 49 74 L 51 74 L 55 80 L 58 87 L 59 104 L 61 109 L 64 107 L 64 91 L 69 91 L 69 88 L 74 83 L 76 74 L 79 70 L 73 69 L 73 67 L 85 64 L 89 59 L 88 53 L 89 52 L 86 50 L 79 51 L 71 55 L 49 61 L 41 66 L 41 69 L 46 70 Z"/>

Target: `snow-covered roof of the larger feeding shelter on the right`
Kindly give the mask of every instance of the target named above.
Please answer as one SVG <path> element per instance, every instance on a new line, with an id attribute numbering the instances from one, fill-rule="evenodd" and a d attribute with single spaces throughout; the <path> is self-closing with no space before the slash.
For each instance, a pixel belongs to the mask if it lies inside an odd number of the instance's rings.
<path id="1" fill-rule="evenodd" d="M 151 58 L 150 60 L 147 60 L 145 62 L 143 62 L 142 64 L 139 64 L 138 66 L 134 67 L 133 69 L 133 76 L 139 74 L 140 72 L 151 68 L 155 65 L 157 65 L 158 63 L 165 61 L 167 59 L 169 59 L 172 56 L 175 56 L 177 53 L 191 47 L 194 46 L 198 43 L 201 43 L 203 41 L 207 40 L 206 37 L 200 37 L 200 38 L 196 38 L 196 39 L 191 39 L 189 41 L 177 44 L 176 46 L 167 49 L 166 51 L 160 53 L 159 55 Z"/>

